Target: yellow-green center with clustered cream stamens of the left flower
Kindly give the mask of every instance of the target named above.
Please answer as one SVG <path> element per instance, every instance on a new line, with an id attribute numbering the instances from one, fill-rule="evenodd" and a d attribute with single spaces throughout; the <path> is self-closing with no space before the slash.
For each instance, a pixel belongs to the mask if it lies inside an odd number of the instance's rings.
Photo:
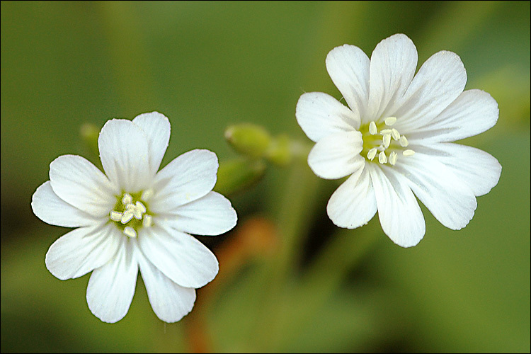
<path id="1" fill-rule="evenodd" d="M 153 217 L 147 210 L 147 200 L 152 194 L 152 190 L 124 193 L 110 212 L 110 219 L 126 236 L 136 237 L 137 229 L 152 225 Z"/>

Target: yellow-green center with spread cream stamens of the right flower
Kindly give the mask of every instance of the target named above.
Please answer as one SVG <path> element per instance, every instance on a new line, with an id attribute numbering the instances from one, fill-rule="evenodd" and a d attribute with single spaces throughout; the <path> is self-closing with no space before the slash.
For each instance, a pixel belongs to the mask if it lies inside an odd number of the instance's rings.
<path id="1" fill-rule="evenodd" d="M 383 122 L 376 123 L 374 120 L 360 127 L 363 139 L 363 149 L 361 156 L 367 157 L 370 161 L 374 160 L 378 155 L 378 162 L 380 164 L 396 164 L 399 153 L 403 156 L 411 156 L 415 152 L 411 149 L 406 149 L 409 142 L 404 135 L 401 135 L 398 130 L 392 128 L 396 122 L 396 117 L 387 117 Z"/>

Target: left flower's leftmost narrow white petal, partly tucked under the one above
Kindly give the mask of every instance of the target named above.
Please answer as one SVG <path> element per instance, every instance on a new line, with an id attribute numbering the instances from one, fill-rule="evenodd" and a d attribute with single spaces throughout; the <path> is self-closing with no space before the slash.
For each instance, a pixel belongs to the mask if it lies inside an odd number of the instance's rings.
<path id="1" fill-rule="evenodd" d="M 31 208 L 47 224 L 62 227 L 80 227 L 96 224 L 98 219 L 70 205 L 52 190 L 50 181 L 42 183 L 31 198 Z"/>

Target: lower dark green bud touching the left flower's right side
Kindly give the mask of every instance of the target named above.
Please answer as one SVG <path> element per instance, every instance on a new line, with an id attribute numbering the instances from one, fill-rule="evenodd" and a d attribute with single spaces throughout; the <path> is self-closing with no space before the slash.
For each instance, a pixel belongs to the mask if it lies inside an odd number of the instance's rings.
<path id="1" fill-rule="evenodd" d="M 217 170 L 217 182 L 214 190 L 222 195 L 229 195 L 258 182 L 265 172 L 262 160 L 234 159 L 223 161 Z"/>

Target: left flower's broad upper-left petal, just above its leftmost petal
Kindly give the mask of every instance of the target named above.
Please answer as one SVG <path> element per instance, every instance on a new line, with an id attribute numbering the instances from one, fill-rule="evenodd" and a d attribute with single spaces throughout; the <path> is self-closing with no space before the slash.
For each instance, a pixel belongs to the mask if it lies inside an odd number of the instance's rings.
<path id="1" fill-rule="evenodd" d="M 118 193 L 96 166 L 76 155 L 52 161 L 50 185 L 59 198 L 94 217 L 107 215 Z"/>

